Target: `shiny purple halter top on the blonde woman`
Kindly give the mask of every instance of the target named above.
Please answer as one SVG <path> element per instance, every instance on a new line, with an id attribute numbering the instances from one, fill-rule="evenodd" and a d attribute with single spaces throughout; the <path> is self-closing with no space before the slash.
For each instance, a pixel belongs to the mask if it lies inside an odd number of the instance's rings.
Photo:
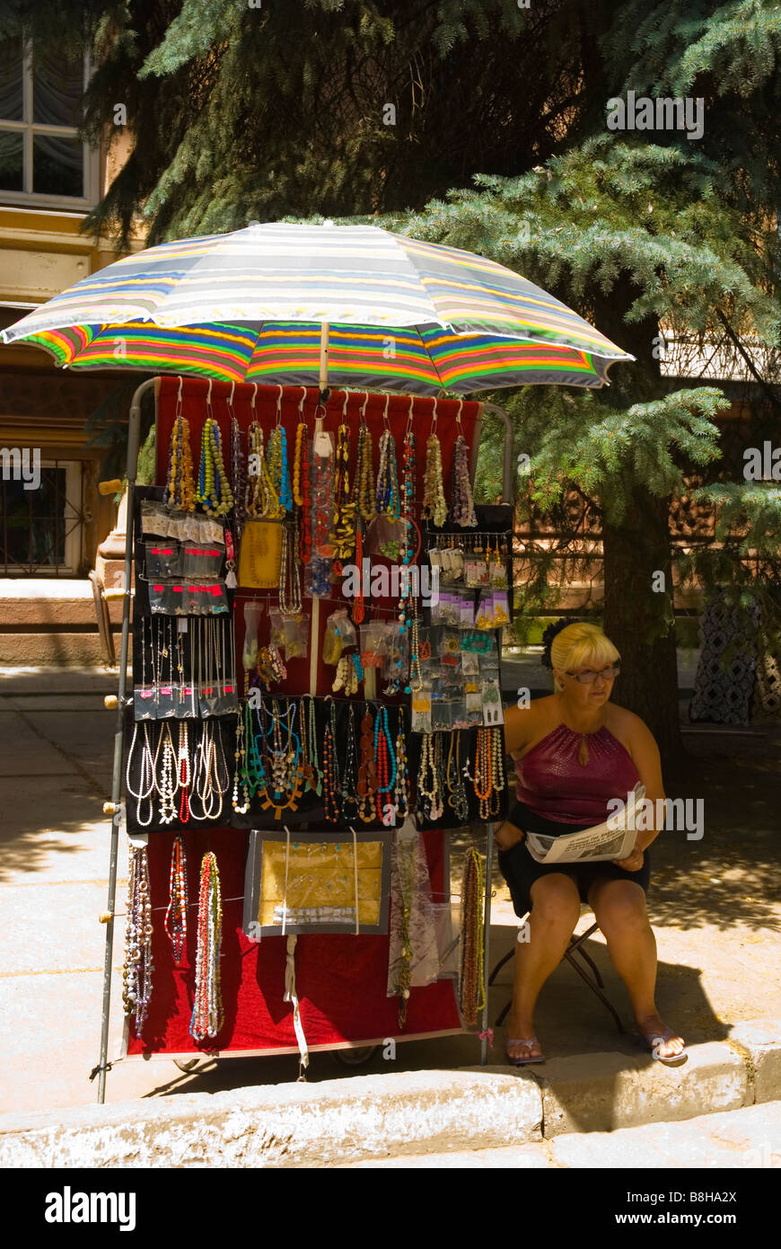
<path id="1" fill-rule="evenodd" d="M 581 736 L 558 724 L 523 759 L 515 759 L 518 801 L 545 819 L 601 824 L 608 801 L 626 802 L 640 779 L 631 754 L 605 724 L 585 734 L 589 758 L 584 767 L 578 758 Z"/>

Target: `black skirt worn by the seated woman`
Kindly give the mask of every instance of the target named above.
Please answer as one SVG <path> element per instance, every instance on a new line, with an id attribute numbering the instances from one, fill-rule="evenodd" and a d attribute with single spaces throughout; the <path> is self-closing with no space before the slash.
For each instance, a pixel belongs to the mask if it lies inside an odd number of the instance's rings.
<path id="1" fill-rule="evenodd" d="M 545 819 L 538 816 L 524 803 L 518 802 L 507 817 L 517 828 L 524 832 L 546 833 L 549 837 L 558 837 L 561 833 L 581 832 L 591 828 L 591 824 L 564 824 L 555 819 Z M 551 872 L 563 872 L 573 878 L 580 893 L 580 901 L 589 901 L 589 889 L 595 881 L 634 881 L 648 893 L 651 877 L 651 859 L 648 851 L 643 852 L 643 866 L 636 872 L 625 872 L 609 859 L 598 863 L 538 863 L 531 858 L 526 848 L 525 839 L 518 842 L 509 851 L 499 851 L 499 871 L 507 881 L 513 909 L 519 918 L 531 911 L 530 889 L 541 876 L 550 876 Z"/>

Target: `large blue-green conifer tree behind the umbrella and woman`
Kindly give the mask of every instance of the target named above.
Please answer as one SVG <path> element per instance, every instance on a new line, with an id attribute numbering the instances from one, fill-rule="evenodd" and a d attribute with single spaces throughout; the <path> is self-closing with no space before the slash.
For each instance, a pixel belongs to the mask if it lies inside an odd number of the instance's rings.
<path id="1" fill-rule="evenodd" d="M 777 6 L 40 0 L 4 6 L 0 34 L 22 10 L 34 39 L 65 25 L 92 47 L 86 132 L 121 101 L 138 136 L 90 226 L 115 222 L 121 240 L 141 209 L 150 241 L 253 217 L 378 221 L 517 269 L 633 352 L 598 393 L 493 397 L 531 456 L 526 506 L 561 508 L 569 488 L 601 522 L 604 622 L 624 657 L 615 697 L 669 764 L 680 751 L 670 501 L 687 476 L 719 511 L 724 546 L 680 560 L 681 573 L 729 581 L 744 600 L 779 581 L 779 488 L 721 461 L 716 421 L 735 388 L 682 386 L 659 361 L 662 327 L 749 360 L 761 418 L 777 428 Z M 701 97 L 701 137 L 610 131 L 608 101 L 629 91 Z M 759 366 L 756 342 L 770 348 Z M 549 563 L 525 588 L 529 607 L 544 601 Z"/>

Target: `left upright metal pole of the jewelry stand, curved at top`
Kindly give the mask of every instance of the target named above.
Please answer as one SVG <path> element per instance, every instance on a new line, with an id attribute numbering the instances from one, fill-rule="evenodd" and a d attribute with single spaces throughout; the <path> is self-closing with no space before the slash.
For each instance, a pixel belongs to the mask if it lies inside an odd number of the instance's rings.
<path id="1" fill-rule="evenodd" d="M 132 577 L 133 541 L 133 501 L 136 493 L 136 475 L 138 471 L 138 431 L 141 426 L 141 396 L 155 385 L 151 377 L 137 387 L 131 405 L 127 426 L 127 528 L 125 533 L 125 586 L 122 596 L 122 643 L 120 648 L 120 688 L 116 708 L 116 731 L 114 734 L 114 771 L 111 776 L 111 801 L 104 803 L 104 813 L 111 816 L 111 849 L 109 858 L 109 902 L 106 907 L 106 953 L 104 959 L 104 1005 L 100 1032 L 100 1064 L 97 1070 L 97 1100 L 106 1100 L 106 1072 L 109 1064 L 109 1009 L 111 1005 L 111 963 L 114 957 L 114 906 L 116 899 L 116 867 L 122 821 L 122 756 L 125 753 L 125 709 L 127 687 L 127 651 L 130 638 L 130 597 Z M 95 1074 L 95 1072 L 92 1073 Z"/>

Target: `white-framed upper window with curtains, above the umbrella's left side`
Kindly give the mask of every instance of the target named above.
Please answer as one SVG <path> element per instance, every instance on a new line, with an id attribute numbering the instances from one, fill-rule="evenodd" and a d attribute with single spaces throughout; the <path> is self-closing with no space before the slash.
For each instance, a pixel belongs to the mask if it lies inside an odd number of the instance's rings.
<path id="1" fill-rule="evenodd" d="M 0 41 L 0 201 L 86 209 L 97 201 L 97 154 L 79 139 L 82 59 Z"/>

